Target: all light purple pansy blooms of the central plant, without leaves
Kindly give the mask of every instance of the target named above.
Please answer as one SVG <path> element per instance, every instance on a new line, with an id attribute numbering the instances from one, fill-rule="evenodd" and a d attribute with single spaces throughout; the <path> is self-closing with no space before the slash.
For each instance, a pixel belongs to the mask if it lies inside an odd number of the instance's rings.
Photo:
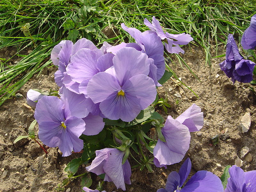
<path id="1" fill-rule="evenodd" d="M 27 94 L 29 104 L 36 106 L 38 136 L 45 145 L 59 147 L 62 156 L 79 152 L 83 149 L 79 137 L 101 132 L 103 118 L 130 122 L 156 99 L 156 87 L 162 86 L 158 80 L 165 71 L 162 40 L 168 52 L 184 53 L 179 45 L 188 44 L 193 38 L 184 33 L 164 33 L 155 17 L 152 24 L 147 19 L 144 23 L 150 30 L 143 33 L 121 24 L 136 43 L 111 46 L 104 42 L 98 49 L 82 38 L 75 44 L 61 41 L 53 48 L 51 59 L 58 66 L 54 76 L 60 86 L 60 98 L 35 90 Z M 156 166 L 180 162 L 189 147 L 189 132 L 202 126 L 203 113 L 196 105 L 176 120 L 168 116 L 162 129 L 166 142 L 158 140 L 154 148 Z M 105 173 L 104 180 L 125 190 L 125 183 L 131 184 L 131 166 L 128 160 L 122 164 L 124 153 L 116 148 L 97 150 L 96 158 L 86 169 L 97 175 Z"/>

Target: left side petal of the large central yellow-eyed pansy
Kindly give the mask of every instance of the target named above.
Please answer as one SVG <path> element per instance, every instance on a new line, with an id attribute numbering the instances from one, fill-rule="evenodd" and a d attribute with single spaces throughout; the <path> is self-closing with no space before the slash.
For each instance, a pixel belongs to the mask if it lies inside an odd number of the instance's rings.
<path id="1" fill-rule="evenodd" d="M 87 95 L 94 103 L 107 99 L 111 94 L 121 89 L 116 78 L 106 72 L 97 73 L 87 85 Z"/>

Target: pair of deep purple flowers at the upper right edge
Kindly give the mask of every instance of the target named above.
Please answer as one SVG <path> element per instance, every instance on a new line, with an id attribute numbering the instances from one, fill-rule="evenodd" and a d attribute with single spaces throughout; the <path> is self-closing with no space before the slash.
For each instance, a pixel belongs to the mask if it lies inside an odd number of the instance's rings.
<path id="1" fill-rule="evenodd" d="M 254 49 L 256 46 L 256 15 L 252 16 L 250 27 L 244 31 L 241 44 L 244 49 Z M 232 82 L 250 83 L 255 63 L 245 60 L 239 53 L 233 35 L 228 35 L 226 60 L 220 63 L 220 69 L 231 78 Z"/>

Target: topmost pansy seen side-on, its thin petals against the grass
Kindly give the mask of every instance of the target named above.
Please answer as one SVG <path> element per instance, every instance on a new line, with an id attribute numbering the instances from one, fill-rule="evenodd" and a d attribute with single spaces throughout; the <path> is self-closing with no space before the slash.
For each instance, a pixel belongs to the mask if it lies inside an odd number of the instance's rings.
<path id="1" fill-rule="evenodd" d="M 148 26 L 150 30 L 154 31 L 162 40 L 167 40 L 168 43 L 165 43 L 165 49 L 169 53 L 184 53 L 184 50 L 182 50 L 179 45 L 186 45 L 190 41 L 193 41 L 193 38 L 189 34 L 164 33 L 163 28 L 161 27 L 159 21 L 156 20 L 155 16 L 152 18 L 152 23 L 150 23 L 147 19 L 144 19 L 144 24 Z"/>

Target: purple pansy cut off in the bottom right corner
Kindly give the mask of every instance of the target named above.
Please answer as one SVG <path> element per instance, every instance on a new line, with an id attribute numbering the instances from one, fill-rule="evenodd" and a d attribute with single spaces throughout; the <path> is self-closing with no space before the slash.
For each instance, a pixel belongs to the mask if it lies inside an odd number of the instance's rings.
<path id="1" fill-rule="evenodd" d="M 253 192 L 256 191 L 256 171 L 244 172 L 240 167 L 233 165 L 228 170 L 227 188 L 224 192 Z"/>

